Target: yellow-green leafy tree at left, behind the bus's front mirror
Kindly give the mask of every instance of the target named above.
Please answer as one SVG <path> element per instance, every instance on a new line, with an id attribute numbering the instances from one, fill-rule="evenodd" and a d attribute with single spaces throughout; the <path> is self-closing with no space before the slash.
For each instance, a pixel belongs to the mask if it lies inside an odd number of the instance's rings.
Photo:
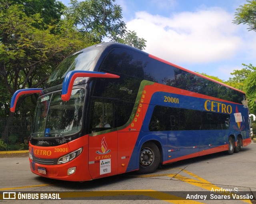
<path id="1" fill-rule="evenodd" d="M 16 90 L 42 87 L 60 61 L 90 45 L 90 39 L 76 32 L 66 20 L 47 25 L 40 14 L 27 16 L 23 5 L 0 4 L 1 111 L 10 110 L 10 97 Z M 18 101 L 17 107 L 25 97 Z M 6 114 L 10 122 L 14 113 Z"/>

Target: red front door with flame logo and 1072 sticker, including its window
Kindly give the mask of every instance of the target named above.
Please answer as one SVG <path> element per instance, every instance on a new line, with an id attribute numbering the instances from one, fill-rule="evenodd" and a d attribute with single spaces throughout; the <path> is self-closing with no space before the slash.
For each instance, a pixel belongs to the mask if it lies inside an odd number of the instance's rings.
<path id="1" fill-rule="evenodd" d="M 93 179 L 117 174 L 114 104 L 95 99 L 90 113 L 89 172 Z"/>

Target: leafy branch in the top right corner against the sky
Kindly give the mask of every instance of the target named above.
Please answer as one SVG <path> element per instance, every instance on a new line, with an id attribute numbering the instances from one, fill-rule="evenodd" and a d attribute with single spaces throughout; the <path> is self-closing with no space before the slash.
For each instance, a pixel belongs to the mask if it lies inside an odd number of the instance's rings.
<path id="1" fill-rule="evenodd" d="M 256 0 L 247 0 L 247 4 L 239 6 L 235 12 L 234 24 L 247 24 L 248 30 L 256 31 Z"/>

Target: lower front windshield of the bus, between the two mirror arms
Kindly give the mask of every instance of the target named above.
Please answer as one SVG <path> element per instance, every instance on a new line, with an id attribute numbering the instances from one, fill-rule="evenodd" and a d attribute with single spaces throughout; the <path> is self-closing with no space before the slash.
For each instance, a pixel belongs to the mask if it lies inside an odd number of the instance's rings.
<path id="1" fill-rule="evenodd" d="M 60 137 L 77 133 L 82 128 L 84 89 L 74 89 L 69 101 L 61 92 L 40 97 L 36 105 L 33 137 Z"/>

